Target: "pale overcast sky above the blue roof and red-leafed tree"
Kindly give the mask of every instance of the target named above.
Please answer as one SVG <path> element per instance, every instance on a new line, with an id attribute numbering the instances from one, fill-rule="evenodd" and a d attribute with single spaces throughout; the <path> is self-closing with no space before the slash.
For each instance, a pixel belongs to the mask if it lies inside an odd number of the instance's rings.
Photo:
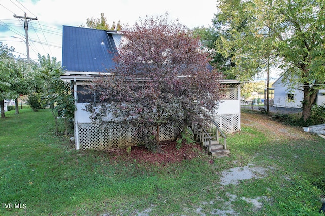
<path id="1" fill-rule="evenodd" d="M 15 48 L 15 55 L 26 58 L 25 30 L 23 21 L 14 15 L 31 20 L 28 27 L 30 58 L 37 54 L 50 54 L 58 61 L 62 58 L 62 26 L 86 24 L 87 18 L 99 18 L 101 13 L 107 22 L 120 20 L 121 24 L 133 25 L 139 17 L 161 16 L 168 13 L 169 20 L 178 19 L 188 28 L 208 27 L 217 12 L 215 0 L 0 0 L 0 41 Z"/>

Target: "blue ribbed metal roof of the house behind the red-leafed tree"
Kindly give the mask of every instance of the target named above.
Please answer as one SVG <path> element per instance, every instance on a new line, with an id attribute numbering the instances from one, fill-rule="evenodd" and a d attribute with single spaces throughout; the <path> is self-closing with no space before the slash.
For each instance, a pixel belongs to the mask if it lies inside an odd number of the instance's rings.
<path id="1" fill-rule="evenodd" d="M 62 66 L 66 71 L 107 72 L 118 55 L 107 31 L 63 26 Z"/>

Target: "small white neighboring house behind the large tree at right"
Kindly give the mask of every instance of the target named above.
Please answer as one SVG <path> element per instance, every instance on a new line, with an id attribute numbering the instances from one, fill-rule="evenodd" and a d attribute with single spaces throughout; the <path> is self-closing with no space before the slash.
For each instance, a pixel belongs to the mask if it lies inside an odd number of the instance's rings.
<path id="1" fill-rule="evenodd" d="M 272 87 L 274 88 L 274 103 L 277 107 L 293 107 L 301 108 L 301 102 L 304 99 L 304 93 L 299 89 L 289 89 L 288 82 L 283 82 L 283 76 L 276 80 Z M 318 91 L 316 96 L 316 104 L 323 105 L 325 103 L 325 90 Z"/>

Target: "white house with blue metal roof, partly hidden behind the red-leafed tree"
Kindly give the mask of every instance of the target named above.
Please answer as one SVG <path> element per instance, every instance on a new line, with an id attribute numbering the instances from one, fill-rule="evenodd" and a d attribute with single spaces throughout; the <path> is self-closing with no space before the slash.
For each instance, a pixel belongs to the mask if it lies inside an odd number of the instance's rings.
<path id="1" fill-rule="evenodd" d="M 109 128 L 98 128 L 91 123 L 85 111 L 87 95 L 82 94 L 84 85 L 100 74 L 107 74 L 106 68 L 114 66 L 112 58 L 118 54 L 121 35 L 116 31 L 63 26 L 62 66 L 65 75 L 61 78 L 71 83 L 77 110 L 74 116 L 76 149 L 103 149 L 137 142 L 135 128 L 113 124 Z M 220 103 L 214 119 L 225 133 L 240 130 L 240 82 L 222 80 L 223 102 Z M 160 129 L 160 140 L 175 138 L 177 124 L 170 123 Z"/>

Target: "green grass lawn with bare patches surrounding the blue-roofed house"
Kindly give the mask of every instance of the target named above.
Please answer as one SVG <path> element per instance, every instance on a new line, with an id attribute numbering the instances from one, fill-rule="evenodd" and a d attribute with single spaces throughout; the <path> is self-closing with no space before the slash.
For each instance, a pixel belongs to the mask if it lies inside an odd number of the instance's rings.
<path id="1" fill-rule="evenodd" d="M 0 215 L 319 215 L 325 140 L 259 113 L 242 114 L 229 157 L 164 166 L 73 150 L 49 110 L 13 113 L 0 120 Z M 221 172 L 252 164 L 261 178 L 220 184 Z"/>

